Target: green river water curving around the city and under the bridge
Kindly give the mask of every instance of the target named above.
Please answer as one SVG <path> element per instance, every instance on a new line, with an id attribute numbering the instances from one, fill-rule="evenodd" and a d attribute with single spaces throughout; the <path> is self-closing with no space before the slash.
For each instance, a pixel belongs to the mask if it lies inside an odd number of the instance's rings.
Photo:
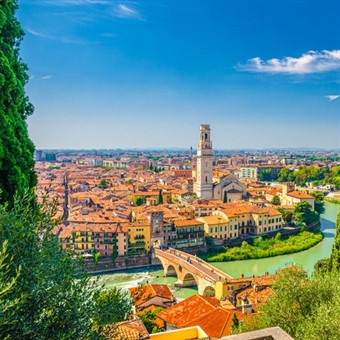
<path id="1" fill-rule="evenodd" d="M 309 273 L 312 272 L 314 263 L 322 258 L 330 255 L 334 234 L 336 215 L 340 209 L 339 204 L 325 203 L 325 213 L 321 216 L 321 230 L 324 233 L 324 239 L 315 247 L 305 250 L 300 253 L 270 257 L 258 260 L 244 260 L 233 262 L 214 262 L 212 265 L 225 273 L 240 277 L 261 275 L 265 272 L 270 274 L 281 269 L 289 264 L 298 264 L 306 269 Z M 105 283 L 107 288 L 120 287 L 127 289 L 144 283 L 166 283 L 170 287 L 177 281 L 175 277 L 163 277 L 162 268 L 141 268 L 127 270 L 124 272 L 101 275 L 100 281 Z M 177 298 L 187 298 L 197 293 L 197 288 L 181 288 L 174 290 L 174 295 Z"/>

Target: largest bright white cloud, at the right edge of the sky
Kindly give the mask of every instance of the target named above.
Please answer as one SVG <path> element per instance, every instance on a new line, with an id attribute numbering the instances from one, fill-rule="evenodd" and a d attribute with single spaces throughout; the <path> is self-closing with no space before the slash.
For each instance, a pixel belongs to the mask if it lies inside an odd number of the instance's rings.
<path id="1" fill-rule="evenodd" d="M 262 60 L 255 57 L 238 69 L 258 73 L 311 74 L 340 70 L 340 50 L 308 51 L 300 57 Z"/>

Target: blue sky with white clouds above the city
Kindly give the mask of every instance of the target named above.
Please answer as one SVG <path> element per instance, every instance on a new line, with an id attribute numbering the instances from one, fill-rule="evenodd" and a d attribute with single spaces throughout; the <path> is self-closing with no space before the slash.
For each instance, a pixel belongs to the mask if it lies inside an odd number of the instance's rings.
<path id="1" fill-rule="evenodd" d="M 19 4 L 37 148 L 340 148 L 339 1 Z"/>

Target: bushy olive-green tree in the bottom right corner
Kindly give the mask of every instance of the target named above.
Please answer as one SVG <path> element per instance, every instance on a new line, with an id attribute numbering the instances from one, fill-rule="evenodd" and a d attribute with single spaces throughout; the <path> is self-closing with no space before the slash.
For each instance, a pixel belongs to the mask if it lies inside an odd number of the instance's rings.
<path id="1" fill-rule="evenodd" d="M 339 272 L 308 277 L 298 267 L 278 274 L 274 293 L 239 332 L 279 326 L 294 339 L 339 339 Z"/>

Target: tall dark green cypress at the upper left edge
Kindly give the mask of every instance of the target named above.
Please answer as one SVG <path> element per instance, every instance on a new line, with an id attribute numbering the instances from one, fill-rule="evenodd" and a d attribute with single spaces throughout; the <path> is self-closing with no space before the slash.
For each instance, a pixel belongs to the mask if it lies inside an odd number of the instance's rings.
<path id="1" fill-rule="evenodd" d="M 19 56 L 23 30 L 15 17 L 17 0 L 0 2 L 0 203 L 13 205 L 36 184 L 34 145 L 26 119 L 33 106 L 25 95 L 27 67 Z"/>

